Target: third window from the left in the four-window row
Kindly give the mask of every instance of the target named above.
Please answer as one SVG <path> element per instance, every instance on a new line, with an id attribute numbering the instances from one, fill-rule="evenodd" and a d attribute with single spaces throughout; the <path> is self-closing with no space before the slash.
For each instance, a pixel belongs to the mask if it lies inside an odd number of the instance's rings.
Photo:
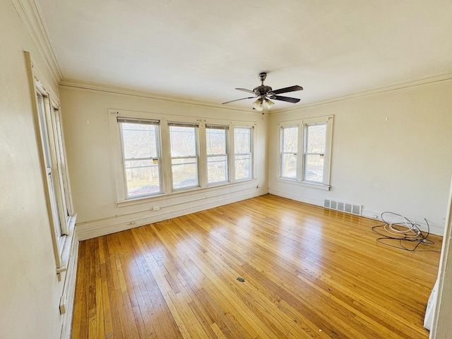
<path id="1" fill-rule="evenodd" d="M 206 126 L 207 182 L 228 181 L 229 126 Z"/>

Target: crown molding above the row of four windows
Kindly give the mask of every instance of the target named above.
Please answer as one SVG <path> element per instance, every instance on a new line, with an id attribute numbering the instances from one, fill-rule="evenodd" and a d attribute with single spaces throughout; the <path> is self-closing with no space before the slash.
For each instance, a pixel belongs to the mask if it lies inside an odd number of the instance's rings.
<path id="1" fill-rule="evenodd" d="M 144 97 L 147 99 L 167 101 L 167 102 L 177 102 L 179 104 L 185 104 L 185 105 L 214 107 L 214 108 L 218 108 L 218 109 L 227 109 L 227 110 L 232 110 L 235 112 L 239 111 L 239 112 L 253 113 L 253 114 L 258 114 L 258 115 L 263 114 L 263 112 L 256 112 L 256 110 L 253 110 L 253 109 L 240 109 L 237 107 L 226 107 L 224 105 L 220 105 L 215 102 L 192 100 L 192 99 L 186 99 L 184 97 L 172 97 L 169 95 L 160 95 L 160 94 L 145 92 L 145 91 L 141 91 L 141 90 L 131 90 L 129 88 L 121 88 L 121 87 L 115 87 L 115 86 L 109 86 L 109 85 L 100 85 L 98 83 L 90 83 L 90 82 L 78 81 L 78 80 L 64 79 L 64 80 L 60 81 L 59 85 L 60 85 L 60 88 L 66 87 L 66 88 L 77 88 L 77 89 L 81 89 L 81 90 L 95 90 L 95 91 L 104 92 L 104 93 L 129 95 L 129 96 L 133 96 L 133 97 Z M 268 112 L 265 112 L 265 113 L 268 113 Z"/>

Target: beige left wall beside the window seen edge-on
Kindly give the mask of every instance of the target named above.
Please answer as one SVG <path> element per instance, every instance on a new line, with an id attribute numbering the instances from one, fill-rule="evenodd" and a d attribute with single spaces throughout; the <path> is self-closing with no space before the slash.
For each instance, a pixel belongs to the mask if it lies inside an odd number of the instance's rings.
<path id="1" fill-rule="evenodd" d="M 59 338 L 63 282 L 56 274 L 24 50 L 43 80 L 52 78 L 11 1 L 0 1 L 0 35 L 0 338 Z"/>

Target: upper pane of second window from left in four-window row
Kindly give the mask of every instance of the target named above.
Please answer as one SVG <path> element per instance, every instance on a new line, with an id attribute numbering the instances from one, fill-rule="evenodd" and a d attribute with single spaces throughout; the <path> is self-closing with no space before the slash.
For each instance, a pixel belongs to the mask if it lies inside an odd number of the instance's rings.
<path id="1" fill-rule="evenodd" d="M 195 126 L 169 126 L 172 157 L 196 156 L 196 128 Z"/>

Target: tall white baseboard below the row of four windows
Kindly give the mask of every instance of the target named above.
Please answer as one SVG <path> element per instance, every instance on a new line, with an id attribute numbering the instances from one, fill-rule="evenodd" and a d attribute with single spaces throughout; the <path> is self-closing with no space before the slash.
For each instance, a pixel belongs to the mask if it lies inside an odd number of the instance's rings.
<path id="1" fill-rule="evenodd" d="M 263 194 L 268 194 L 268 189 L 249 189 L 244 191 L 244 193 L 231 192 L 229 194 L 209 197 L 206 198 L 205 201 L 195 201 L 195 204 L 193 202 L 181 203 L 180 206 L 172 206 L 169 211 L 166 210 L 166 208 L 160 208 L 158 211 L 145 210 L 129 215 L 112 216 L 111 218 L 104 218 L 102 220 L 83 222 L 83 224 L 76 225 L 78 239 L 85 240 L 101 237 L 102 235 L 129 230 L 133 227 L 148 225 L 153 222 L 177 218 L 182 215 L 207 210 L 208 208 L 226 205 L 227 203 L 235 203 L 256 196 L 262 196 Z"/>

